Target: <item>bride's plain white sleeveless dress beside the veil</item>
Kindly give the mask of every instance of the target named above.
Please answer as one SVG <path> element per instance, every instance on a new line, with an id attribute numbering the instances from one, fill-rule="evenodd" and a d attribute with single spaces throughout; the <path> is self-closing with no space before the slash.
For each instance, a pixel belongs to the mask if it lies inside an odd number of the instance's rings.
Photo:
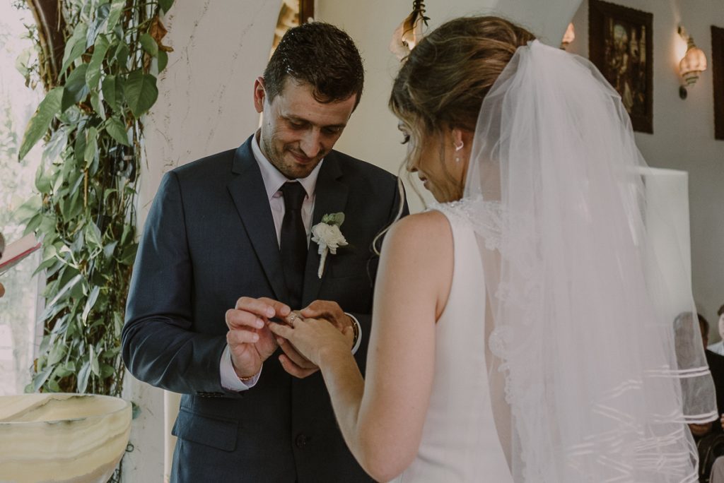
<path id="1" fill-rule="evenodd" d="M 485 281 L 476 236 L 456 215 L 454 205 L 434 208 L 452 228 L 452 286 L 437 320 L 432 395 L 420 449 L 411 466 L 393 481 L 512 483 L 491 402 Z M 502 400 L 502 393 L 497 398 Z"/>

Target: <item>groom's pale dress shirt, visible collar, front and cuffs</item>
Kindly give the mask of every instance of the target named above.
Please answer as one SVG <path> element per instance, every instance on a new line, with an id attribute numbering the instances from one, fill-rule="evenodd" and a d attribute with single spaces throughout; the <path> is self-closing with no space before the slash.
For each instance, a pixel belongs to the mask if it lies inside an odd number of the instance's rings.
<path id="1" fill-rule="evenodd" d="M 282 196 L 281 188 L 287 181 L 290 181 L 290 179 L 287 179 L 286 176 L 279 172 L 279 170 L 275 168 L 274 165 L 269 162 L 269 160 L 266 159 L 264 154 L 261 153 L 261 148 L 259 148 L 258 143 L 258 137 L 260 136 L 261 132 L 257 131 L 256 134 L 252 137 L 251 152 L 253 153 L 254 159 L 259 166 L 259 170 L 261 171 L 261 179 L 264 180 L 266 195 L 267 197 L 269 197 L 269 208 L 271 208 L 271 216 L 274 218 L 274 228 L 277 229 L 277 243 L 281 244 L 282 221 L 284 220 L 285 213 L 284 197 Z M 304 229 L 307 233 L 307 245 L 309 244 L 312 213 L 314 213 L 314 192 L 316 189 L 316 181 L 317 177 L 319 176 L 319 169 L 321 168 L 322 163 L 324 163 L 324 160 L 320 161 L 319 164 L 306 178 L 295 180 L 299 181 L 299 183 L 304 188 L 304 191 L 307 192 L 307 195 L 302 202 L 301 210 Z M 352 318 L 353 323 L 355 323 L 359 329 L 359 322 L 357 321 L 357 319 L 353 315 L 347 315 Z M 357 343 L 355 344 L 353 354 L 357 351 L 359 347 L 359 339 L 361 339 L 361 336 L 358 338 Z M 242 382 L 237 376 L 236 371 L 234 370 L 234 366 L 231 362 L 231 351 L 228 345 L 226 346 L 226 349 L 224 349 L 224 354 L 222 354 L 220 369 L 222 386 L 229 390 L 240 391 L 252 388 L 253 385 L 256 385 L 256 382 L 259 380 L 259 376 L 261 375 L 261 370 L 259 370 L 258 374 L 251 378 L 251 380 Z"/>

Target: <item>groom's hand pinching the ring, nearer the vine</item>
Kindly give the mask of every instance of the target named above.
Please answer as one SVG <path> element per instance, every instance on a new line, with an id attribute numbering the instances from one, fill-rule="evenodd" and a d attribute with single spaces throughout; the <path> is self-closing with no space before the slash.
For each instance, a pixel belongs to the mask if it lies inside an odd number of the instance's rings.
<path id="1" fill-rule="evenodd" d="M 269 319 L 287 317 L 290 312 L 287 305 L 266 297 L 241 297 L 233 309 L 227 310 L 227 343 L 238 377 L 258 374 L 261 364 L 277 350 L 277 341 L 268 327 Z"/>

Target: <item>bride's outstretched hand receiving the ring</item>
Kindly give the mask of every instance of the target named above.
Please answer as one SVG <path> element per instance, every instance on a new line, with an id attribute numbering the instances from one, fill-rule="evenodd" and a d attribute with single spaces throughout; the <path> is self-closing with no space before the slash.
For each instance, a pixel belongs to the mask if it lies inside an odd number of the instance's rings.
<path id="1" fill-rule="evenodd" d="M 270 323 L 269 329 L 289 341 L 294 349 L 314 366 L 319 367 L 323 351 L 351 354 L 348 333 L 351 328 L 345 328 L 340 332 L 327 320 L 305 319 L 295 312 L 286 317 L 286 321 L 287 325 Z"/>

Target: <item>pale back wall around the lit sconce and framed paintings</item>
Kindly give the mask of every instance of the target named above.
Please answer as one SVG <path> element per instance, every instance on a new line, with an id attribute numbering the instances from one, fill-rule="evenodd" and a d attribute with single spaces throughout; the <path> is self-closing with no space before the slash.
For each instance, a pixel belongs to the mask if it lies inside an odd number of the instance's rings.
<path id="1" fill-rule="evenodd" d="M 724 141 L 714 139 L 711 25 L 724 27 L 724 0 L 615 0 L 654 15 L 654 133 L 636 133 L 650 166 L 689 172 L 691 270 L 699 312 L 712 324 L 724 303 Z M 573 17 L 576 40 L 569 51 L 588 56 L 588 1 Z M 685 101 L 678 96 L 678 62 L 686 43 L 676 33 L 681 22 L 709 60 Z"/>

